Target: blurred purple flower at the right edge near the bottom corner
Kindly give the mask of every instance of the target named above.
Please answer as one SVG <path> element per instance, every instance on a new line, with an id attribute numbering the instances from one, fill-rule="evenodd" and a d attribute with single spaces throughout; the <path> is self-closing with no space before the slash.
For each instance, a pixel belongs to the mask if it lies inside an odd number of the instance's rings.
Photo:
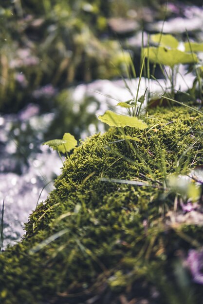
<path id="1" fill-rule="evenodd" d="M 203 250 L 190 249 L 186 261 L 193 281 L 203 285 Z"/>

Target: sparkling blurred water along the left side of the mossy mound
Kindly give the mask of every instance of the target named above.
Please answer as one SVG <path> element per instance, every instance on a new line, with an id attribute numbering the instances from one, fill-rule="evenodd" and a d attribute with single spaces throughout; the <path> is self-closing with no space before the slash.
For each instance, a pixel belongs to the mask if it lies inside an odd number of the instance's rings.
<path id="1" fill-rule="evenodd" d="M 53 118 L 52 113 L 38 116 L 38 107 L 32 104 L 17 115 L 0 117 L 0 209 L 4 201 L 4 246 L 23 235 L 23 223 L 36 208 L 37 201 L 46 199 L 54 178 L 60 173 L 62 163 L 56 152 L 40 145 Z"/>

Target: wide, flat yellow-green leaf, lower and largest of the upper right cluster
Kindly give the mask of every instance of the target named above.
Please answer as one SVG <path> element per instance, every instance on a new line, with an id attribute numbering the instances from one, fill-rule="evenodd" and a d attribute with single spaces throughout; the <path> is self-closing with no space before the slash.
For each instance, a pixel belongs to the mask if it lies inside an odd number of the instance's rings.
<path id="1" fill-rule="evenodd" d="M 169 50 L 164 47 L 150 47 L 145 48 L 144 51 L 153 63 L 166 65 L 171 68 L 178 64 L 198 62 L 196 54 L 188 54 L 179 50 Z"/>

